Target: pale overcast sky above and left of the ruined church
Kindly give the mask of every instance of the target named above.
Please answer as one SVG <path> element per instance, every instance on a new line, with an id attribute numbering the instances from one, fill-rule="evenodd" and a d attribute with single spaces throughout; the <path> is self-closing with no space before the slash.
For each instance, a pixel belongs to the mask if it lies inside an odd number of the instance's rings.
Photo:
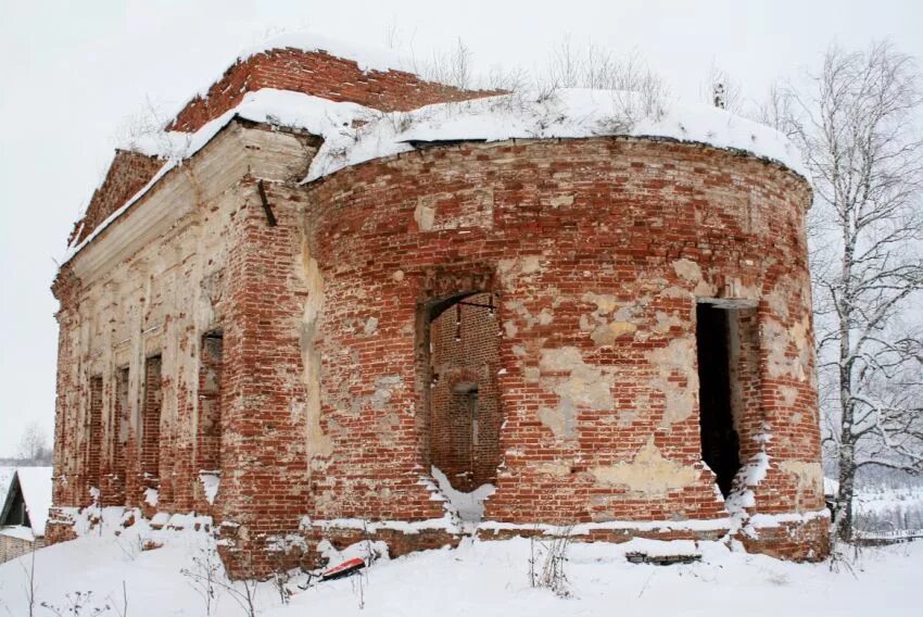
<path id="1" fill-rule="evenodd" d="M 176 109 L 241 48 L 309 29 L 366 45 L 391 27 L 426 56 L 460 37 L 477 68 L 532 68 L 569 36 L 636 52 L 673 93 L 698 98 L 712 63 L 746 96 L 818 64 L 836 39 L 889 37 L 923 63 L 923 2 L 0 0 L 0 456 L 25 425 L 51 433 L 58 302 L 49 286 L 73 222 L 126 118 Z"/>

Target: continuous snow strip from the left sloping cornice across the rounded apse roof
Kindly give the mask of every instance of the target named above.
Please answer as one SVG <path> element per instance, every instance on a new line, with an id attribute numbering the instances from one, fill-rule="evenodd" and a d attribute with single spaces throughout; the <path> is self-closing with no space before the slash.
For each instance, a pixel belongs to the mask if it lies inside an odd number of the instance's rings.
<path id="1" fill-rule="evenodd" d="M 632 92 L 574 88 L 560 89 L 541 98 L 513 93 L 427 105 L 412 112 L 383 113 L 357 103 L 265 88 L 245 93 L 240 104 L 195 133 L 161 133 L 129 144 L 135 151 L 162 156 L 166 163 L 140 191 L 83 241 L 68 247 L 61 263 L 69 261 L 235 117 L 305 129 L 321 137 L 324 143 L 312 161 L 304 182 L 343 167 L 410 151 L 415 143 L 420 142 L 596 136 L 705 143 L 748 152 L 807 177 L 797 148 L 782 134 L 706 104 L 662 101 L 657 113 L 653 113 L 645 112 L 644 102 Z"/>

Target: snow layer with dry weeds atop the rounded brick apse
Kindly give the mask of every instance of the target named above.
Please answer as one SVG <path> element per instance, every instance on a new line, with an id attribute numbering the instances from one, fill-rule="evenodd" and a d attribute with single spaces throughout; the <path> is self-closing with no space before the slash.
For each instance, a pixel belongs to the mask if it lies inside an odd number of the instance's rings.
<path id="1" fill-rule="evenodd" d="M 412 149 L 415 142 L 503 141 L 631 136 L 706 143 L 780 163 L 801 176 L 798 149 L 777 130 L 700 103 L 661 101 L 656 110 L 634 92 L 566 88 L 548 97 L 502 95 L 378 114 L 354 134 L 325 135 L 305 181 L 342 167 Z"/>

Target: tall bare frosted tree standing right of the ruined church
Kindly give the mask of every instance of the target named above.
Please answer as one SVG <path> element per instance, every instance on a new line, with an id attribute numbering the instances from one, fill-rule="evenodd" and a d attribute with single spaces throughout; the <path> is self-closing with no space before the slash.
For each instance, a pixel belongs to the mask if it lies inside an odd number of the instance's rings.
<path id="1" fill-rule="evenodd" d="M 923 99 L 913 60 L 888 42 L 831 47 L 811 88 L 766 109 L 801 147 L 814 187 L 812 277 L 825 446 L 851 539 L 857 473 L 923 470 Z M 768 114 L 768 115 L 769 115 Z M 824 391 L 824 388 L 821 388 Z"/>

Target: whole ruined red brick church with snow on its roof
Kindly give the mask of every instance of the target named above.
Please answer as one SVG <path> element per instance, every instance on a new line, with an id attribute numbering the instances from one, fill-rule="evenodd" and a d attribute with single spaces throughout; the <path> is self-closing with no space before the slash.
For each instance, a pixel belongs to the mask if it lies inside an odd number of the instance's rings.
<path id="1" fill-rule="evenodd" d="M 99 505 L 211 516 L 238 576 L 368 534 L 825 556 L 811 190 L 773 131 L 503 97 L 290 40 L 179 112 L 181 155 L 118 150 L 53 284 L 49 541 Z"/>

